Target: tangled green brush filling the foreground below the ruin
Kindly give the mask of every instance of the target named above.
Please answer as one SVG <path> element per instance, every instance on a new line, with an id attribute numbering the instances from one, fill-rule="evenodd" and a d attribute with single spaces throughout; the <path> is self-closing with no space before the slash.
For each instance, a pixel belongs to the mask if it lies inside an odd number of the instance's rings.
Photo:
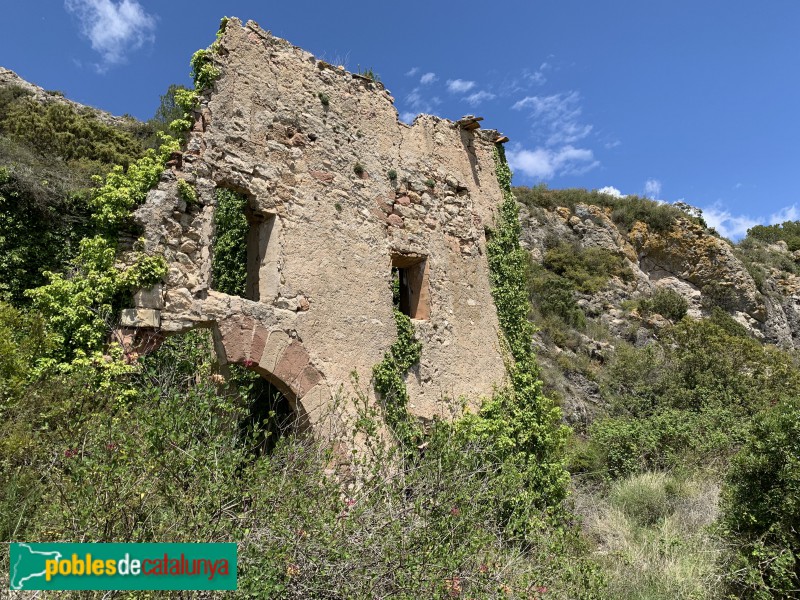
<path id="1" fill-rule="evenodd" d="M 211 348 L 192 332 L 103 388 L 91 365 L 32 383 L 0 421 L 0 541 L 236 542 L 243 597 L 601 597 L 575 530 L 520 546 L 498 525 L 519 490 L 491 447 L 438 424 L 405 460 L 356 390 L 358 418 L 330 417 L 361 452 L 289 435 L 259 455 L 249 388 L 222 383 Z"/>

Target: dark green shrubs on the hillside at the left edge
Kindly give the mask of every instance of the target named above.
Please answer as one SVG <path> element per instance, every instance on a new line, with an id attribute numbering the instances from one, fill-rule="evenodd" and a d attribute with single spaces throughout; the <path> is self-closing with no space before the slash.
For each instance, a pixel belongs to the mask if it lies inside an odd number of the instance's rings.
<path id="1" fill-rule="evenodd" d="M 108 125 L 91 109 L 40 103 L 19 88 L 0 91 L 0 295 L 24 305 L 45 272 L 66 268 L 80 240 L 97 232 L 93 178 L 113 164 L 138 164 L 144 152 L 133 124 Z"/>

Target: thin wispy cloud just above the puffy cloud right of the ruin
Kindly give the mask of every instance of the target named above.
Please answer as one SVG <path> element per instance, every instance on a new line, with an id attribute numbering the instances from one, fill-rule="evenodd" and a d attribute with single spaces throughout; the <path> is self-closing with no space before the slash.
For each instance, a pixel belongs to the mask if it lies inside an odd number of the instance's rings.
<path id="1" fill-rule="evenodd" d="M 535 123 L 534 130 L 546 135 L 548 146 L 574 144 L 592 131 L 591 125 L 579 121 L 582 108 L 580 94 L 569 92 L 552 96 L 526 96 L 511 107 L 514 110 L 528 109 Z"/>

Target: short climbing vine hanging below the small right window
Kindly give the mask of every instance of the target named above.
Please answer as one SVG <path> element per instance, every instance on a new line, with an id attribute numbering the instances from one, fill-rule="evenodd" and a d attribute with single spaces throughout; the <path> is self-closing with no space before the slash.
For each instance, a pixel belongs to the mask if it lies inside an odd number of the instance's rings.
<path id="1" fill-rule="evenodd" d="M 372 368 L 375 390 L 383 399 L 386 423 L 405 446 L 419 444 L 422 432 L 408 413 L 408 391 L 403 380 L 406 372 L 419 362 L 422 343 L 414 339 L 411 319 L 394 309 L 397 339 L 383 360 Z"/>

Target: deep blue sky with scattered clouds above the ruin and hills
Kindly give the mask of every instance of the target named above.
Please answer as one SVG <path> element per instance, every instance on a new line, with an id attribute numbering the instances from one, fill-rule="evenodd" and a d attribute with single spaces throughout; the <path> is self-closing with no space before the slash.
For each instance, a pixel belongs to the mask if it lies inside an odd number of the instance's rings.
<path id="1" fill-rule="evenodd" d="M 403 119 L 474 113 L 517 185 L 683 200 L 738 238 L 800 218 L 796 0 L 6 2 L 0 66 L 151 117 L 220 17 L 373 68 Z"/>

